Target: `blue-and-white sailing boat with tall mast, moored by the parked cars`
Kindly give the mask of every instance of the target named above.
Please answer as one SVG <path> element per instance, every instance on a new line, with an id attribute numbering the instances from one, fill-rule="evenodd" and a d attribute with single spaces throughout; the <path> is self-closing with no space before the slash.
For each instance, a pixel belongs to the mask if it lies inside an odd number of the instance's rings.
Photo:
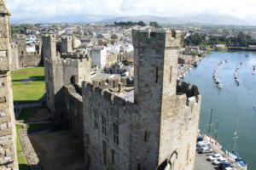
<path id="1" fill-rule="evenodd" d="M 239 123 L 239 121 L 237 121 L 237 123 L 236 123 L 236 131 L 235 131 L 234 137 L 233 137 L 233 139 L 234 139 L 233 150 L 232 150 L 232 152 L 230 152 L 230 150 L 226 150 L 226 154 L 228 156 L 230 156 L 230 158 L 234 159 L 234 161 L 239 163 L 242 167 L 247 167 L 247 163 L 245 161 L 243 161 L 240 156 L 238 156 L 238 151 L 236 151 L 236 139 L 238 139 L 238 136 L 237 136 L 238 123 Z"/>

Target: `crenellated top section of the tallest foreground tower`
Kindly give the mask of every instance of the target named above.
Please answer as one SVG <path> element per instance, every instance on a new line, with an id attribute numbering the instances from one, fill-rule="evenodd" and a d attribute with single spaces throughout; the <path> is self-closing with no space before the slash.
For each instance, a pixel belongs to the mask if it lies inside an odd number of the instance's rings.
<path id="1" fill-rule="evenodd" d="M 133 45 L 148 48 L 178 48 L 180 46 L 181 31 L 132 30 Z"/>

